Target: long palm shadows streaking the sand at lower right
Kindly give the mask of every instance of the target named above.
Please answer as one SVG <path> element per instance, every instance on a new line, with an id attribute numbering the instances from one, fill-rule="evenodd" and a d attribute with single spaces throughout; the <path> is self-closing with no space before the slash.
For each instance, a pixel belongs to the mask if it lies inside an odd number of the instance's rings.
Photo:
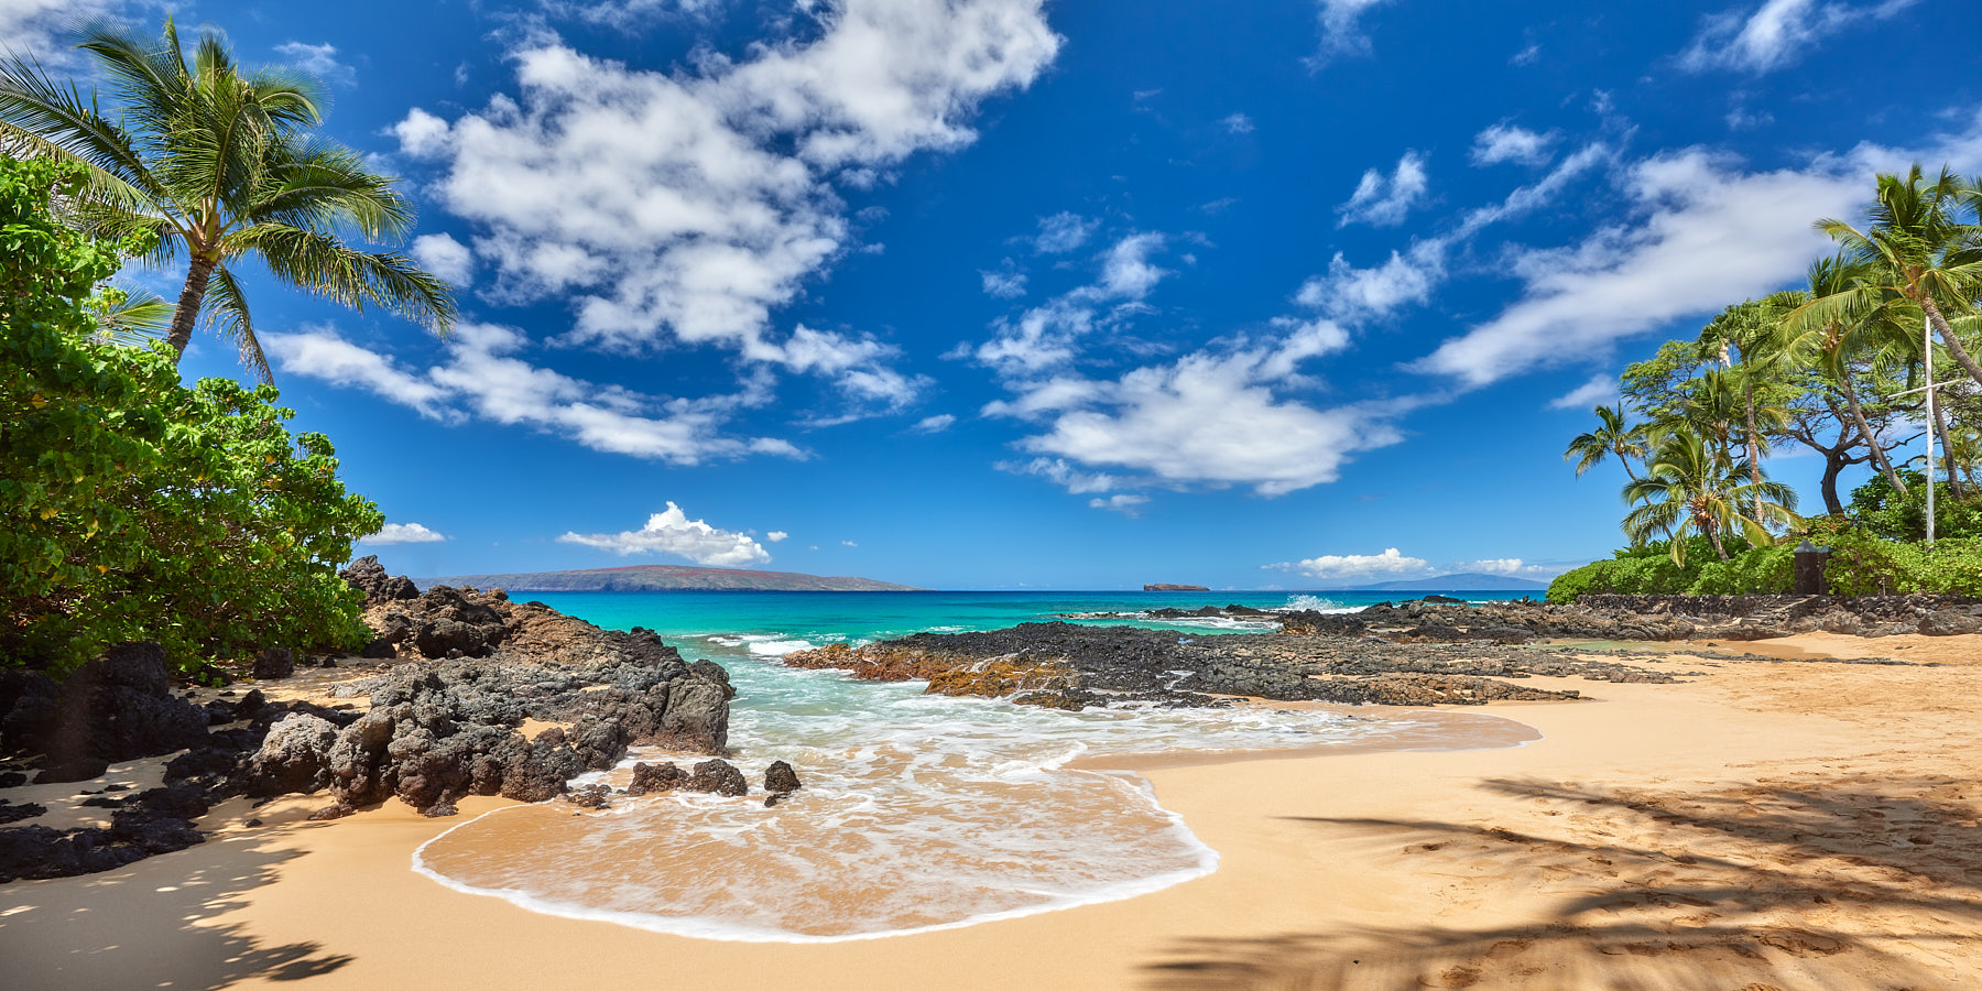
<path id="1" fill-rule="evenodd" d="M 1399 854 L 1403 842 L 1401 856 L 1423 870 L 1471 874 L 1453 898 L 1477 902 L 1453 922 L 1181 939 L 1146 965 L 1146 983 L 1954 987 L 1921 955 L 1891 947 L 1905 941 L 1944 959 L 1958 947 L 1972 953 L 1982 932 L 1982 830 L 1964 785 L 1948 777 L 1825 771 L 1671 793 L 1485 787 L 1540 809 L 1546 826 L 1298 819 L 1360 836 L 1358 854 Z M 1542 918 L 1494 918 L 1496 900 L 1532 906 L 1532 892 L 1546 896 Z"/>

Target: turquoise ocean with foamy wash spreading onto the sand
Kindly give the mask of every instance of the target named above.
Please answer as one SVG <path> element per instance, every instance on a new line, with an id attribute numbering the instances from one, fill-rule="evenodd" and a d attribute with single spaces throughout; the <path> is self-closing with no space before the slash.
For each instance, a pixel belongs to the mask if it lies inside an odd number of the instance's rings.
<path id="1" fill-rule="evenodd" d="M 1421 597 L 1423 591 L 1405 593 Z M 1508 593 L 1445 593 L 1471 601 Z M 529 593 L 608 628 L 646 626 L 729 670 L 727 759 L 751 797 L 616 797 L 501 809 L 436 836 L 414 870 L 523 908 L 710 939 L 838 941 L 971 926 L 1132 898 L 1217 870 L 1134 773 L 1150 755 L 1471 749 L 1532 731 L 1479 714 L 1344 706 L 1088 710 L 924 696 L 779 656 L 920 630 L 987 630 L 1060 614 L 1245 605 L 1356 610 L 1399 593 Z M 1229 618 L 1102 620 L 1217 636 Z M 579 783 L 624 785 L 640 749 Z M 771 761 L 805 789 L 763 807 Z"/>

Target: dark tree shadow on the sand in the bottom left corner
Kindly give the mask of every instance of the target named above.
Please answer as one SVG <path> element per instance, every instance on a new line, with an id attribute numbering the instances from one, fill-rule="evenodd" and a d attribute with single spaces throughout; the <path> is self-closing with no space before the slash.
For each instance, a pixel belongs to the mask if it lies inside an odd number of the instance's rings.
<path id="1" fill-rule="evenodd" d="M 22 991 L 218 989 L 337 971 L 355 957 L 325 953 L 317 941 L 264 945 L 244 924 L 210 922 L 242 908 L 242 894 L 274 882 L 295 856 L 279 834 L 208 838 L 107 874 L 4 886 L 0 983 Z M 81 906 L 63 890 L 73 886 L 91 888 Z M 52 955 L 48 945 L 69 951 Z"/>

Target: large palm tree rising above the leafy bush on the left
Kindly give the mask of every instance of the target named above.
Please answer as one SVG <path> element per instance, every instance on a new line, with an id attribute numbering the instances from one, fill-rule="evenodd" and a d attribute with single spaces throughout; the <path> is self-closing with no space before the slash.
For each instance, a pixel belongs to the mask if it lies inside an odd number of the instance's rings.
<path id="1" fill-rule="evenodd" d="M 155 242 L 151 264 L 184 252 L 186 283 L 166 333 L 174 355 L 204 315 L 270 379 L 240 281 L 250 256 L 275 279 L 359 311 L 379 305 L 440 333 L 454 323 L 444 281 L 400 252 L 347 244 L 349 234 L 404 236 L 412 206 L 359 153 L 311 135 L 319 83 L 289 69 L 244 71 L 216 32 L 202 32 L 188 59 L 172 20 L 159 40 L 87 28 L 77 48 L 113 109 L 12 57 L 0 61 L 0 141 L 89 166 L 89 194 L 73 204 L 79 226 Z"/>

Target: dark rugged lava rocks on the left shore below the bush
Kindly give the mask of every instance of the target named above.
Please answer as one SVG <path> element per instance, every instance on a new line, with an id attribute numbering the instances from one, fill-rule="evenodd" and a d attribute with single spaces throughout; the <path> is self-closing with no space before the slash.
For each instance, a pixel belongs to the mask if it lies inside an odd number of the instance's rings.
<path id="1" fill-rule="evenodd" d="M 182 850 L 204 840 L 194 819 L 240 795 L 323 793 L 331 803 L 311 819 L 394 797 L 440 817 L 468 795 L 559 797 L 569 779 L 610 769 L 642 745 L 712 757 L 694 773 L 642 765 L 648 793 L 747 791 L 721 761 L 735 694 L 721 666 L 686 662 L 650 630 L 603 630 L 501 591 L 422 595 L 369 557 L 343 575 L 367 593 L 365 616 L 381 636 L 359 658 L 319 660 L 377 668 L 339 686 L 337 700 L 270 702 L 248 690 L 196 704 L 194 690 L 174 694 L 157 644 L 113 648 L 63 682 L 0 670 L 0 789 L 30 777 L 89 781 L 111 763 L 182 751 L 161 787 L 101 789 L 85 801 L 109 809 L 107 828 L 36 825 L 44 807 L 0 797 L 0 823 L 24 823 L 0 828 L 0 884 Z M 285 678 L 295 664 L 272 650 L 254 668 L 258 678 Z M 541 725 L 525 733 L 527 723 Z M 775 777 L 771 801 L 797 789 L 789 765 Z M 603 807 L 606 797 L 587 791 L 575 801 Z"/>

